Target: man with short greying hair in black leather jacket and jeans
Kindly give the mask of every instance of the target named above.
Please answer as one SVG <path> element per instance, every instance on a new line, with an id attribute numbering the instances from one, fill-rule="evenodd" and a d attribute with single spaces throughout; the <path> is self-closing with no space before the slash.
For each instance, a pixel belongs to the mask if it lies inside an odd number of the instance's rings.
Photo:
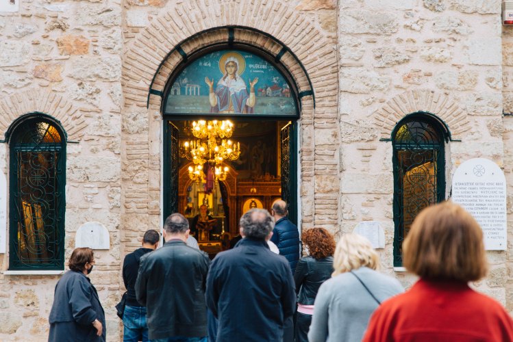
<path id="1" fill-rule="evenodd" d="M 164 223 L 162 248 L 140 259 L 136 296 L 147 308 L 152 341 L 206 341 L 208 254 L 186 245 L 189 223 L 174 213 Z"/>

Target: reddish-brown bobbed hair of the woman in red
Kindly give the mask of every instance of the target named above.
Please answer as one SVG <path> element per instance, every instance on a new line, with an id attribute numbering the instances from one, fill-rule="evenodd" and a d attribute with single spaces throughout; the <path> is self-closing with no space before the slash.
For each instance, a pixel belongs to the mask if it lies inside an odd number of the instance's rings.
<path id="1" fill-rule="evenodd" d="M 488 271 L 479 224 L 452 202 L 417 215 L 403 242 L 403 262 L 410 272 L 432 280 L 469 282 Z"/>

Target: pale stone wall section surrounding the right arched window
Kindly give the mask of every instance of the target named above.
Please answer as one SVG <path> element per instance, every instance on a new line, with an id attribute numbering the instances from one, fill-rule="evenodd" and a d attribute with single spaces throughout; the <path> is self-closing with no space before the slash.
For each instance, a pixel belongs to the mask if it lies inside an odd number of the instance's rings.
<path id="1" fill-rule="evenodd" d="M 392 269 L 392 145 L 379 139 L 390 139 L 403 116 L 427 111 L 460 140 L 446 149 L 447 196 L 451 175 L 466 159 L 492 159 L 508 172 L 500 14 L 495 0 L 339 2 L 340 230 L 379 221 L 386 232 L 381 265 L 406 287 L 414 278 Z M 475 284 L 509 310 L 511 248 L 488 252 L 490 275 Z"/>

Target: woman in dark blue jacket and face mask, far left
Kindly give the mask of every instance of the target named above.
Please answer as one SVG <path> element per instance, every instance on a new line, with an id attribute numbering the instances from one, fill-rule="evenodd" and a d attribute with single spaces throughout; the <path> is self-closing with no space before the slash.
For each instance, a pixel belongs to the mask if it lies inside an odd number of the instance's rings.
<path id="1" fill-rule="evenodd" d="M 105 313 L 87 274 L 95 265 L 90 248 L 75 248 L 69 271 L 55 285 L 50 311 L 50 342 L 104 342 Z"/>

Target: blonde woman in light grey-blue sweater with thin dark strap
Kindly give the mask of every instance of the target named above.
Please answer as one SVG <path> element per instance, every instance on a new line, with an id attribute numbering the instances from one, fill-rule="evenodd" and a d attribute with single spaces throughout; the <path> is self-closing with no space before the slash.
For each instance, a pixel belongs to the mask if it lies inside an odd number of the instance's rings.
<path id="1" fill-rule="evenodd" d="M 360 341 L 377 306 L 403 287 L 376 271 L 379 258 L 360 235 L 342 235 L 336 246 L 334 272 L 317 293 L 308 341 Z"/>

